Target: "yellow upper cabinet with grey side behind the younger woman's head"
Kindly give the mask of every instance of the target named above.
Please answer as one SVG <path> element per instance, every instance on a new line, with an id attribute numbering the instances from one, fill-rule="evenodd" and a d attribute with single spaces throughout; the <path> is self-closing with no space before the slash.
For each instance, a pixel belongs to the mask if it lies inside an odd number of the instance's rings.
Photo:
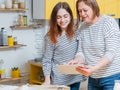
<path id="1" fill-rule="evenodd" d="M 76 0 L 33 0 L 33 19 L 50 19 L 51 11 L 58 2 L 67 2 L 76 18 Z"/>

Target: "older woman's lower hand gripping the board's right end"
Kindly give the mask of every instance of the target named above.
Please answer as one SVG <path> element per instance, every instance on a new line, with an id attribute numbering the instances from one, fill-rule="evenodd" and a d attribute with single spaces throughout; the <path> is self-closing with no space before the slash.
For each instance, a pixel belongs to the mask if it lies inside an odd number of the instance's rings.
<path id="1" fill-rule="evenodd" d="M 76 70 L 87 77 L 94 72 L 93 67 L 88 65 L 85 65 L 84 67 L 77 67 Z"/>

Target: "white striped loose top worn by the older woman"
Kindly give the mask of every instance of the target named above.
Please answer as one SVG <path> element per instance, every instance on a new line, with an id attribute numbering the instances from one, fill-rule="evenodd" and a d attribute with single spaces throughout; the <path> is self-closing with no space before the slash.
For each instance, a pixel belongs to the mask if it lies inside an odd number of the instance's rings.
<path id="1" fill-rule="evenodd" d="M 102 15 L 93 25 L 83 23 L 79 31 L 80 46 L 77 54 L 84 55 L 91 66 L 96 65 L 103 56 L 111 62 L 91 77 L 101 78 L 120 73 L 120 31 L 117 22 L 110 16 Z"/>

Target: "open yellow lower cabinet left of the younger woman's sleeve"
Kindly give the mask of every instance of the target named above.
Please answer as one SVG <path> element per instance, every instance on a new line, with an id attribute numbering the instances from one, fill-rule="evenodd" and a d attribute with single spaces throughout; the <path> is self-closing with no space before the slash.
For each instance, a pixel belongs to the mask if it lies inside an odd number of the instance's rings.
<path id="1" fill-rule="evenodd" d="M 29 64 L 30 64 L 30 84 L 42 84 L 44 82 L 42 64 L 34 61 L 29 61 Z"/>

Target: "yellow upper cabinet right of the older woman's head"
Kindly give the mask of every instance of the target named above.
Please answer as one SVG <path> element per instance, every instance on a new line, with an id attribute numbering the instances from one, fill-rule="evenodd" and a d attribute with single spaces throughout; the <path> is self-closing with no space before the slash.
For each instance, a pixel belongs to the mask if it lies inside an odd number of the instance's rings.
<path id="1" fill-rule="evenodd" d="M 119 0 L 97 0 L 101 14 L 107 14 L 114 18 L 120 18 Z"/>

